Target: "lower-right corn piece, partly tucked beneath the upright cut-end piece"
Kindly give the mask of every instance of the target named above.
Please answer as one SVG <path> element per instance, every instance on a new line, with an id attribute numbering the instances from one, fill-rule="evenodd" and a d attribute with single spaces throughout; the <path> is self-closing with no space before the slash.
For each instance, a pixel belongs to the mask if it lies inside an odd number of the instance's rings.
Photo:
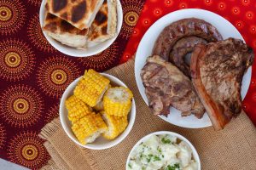
<path id="1" fill-rule="evenodd" d="M 108 131 L 103 133 L 106 139 L 115 139 L 120 133 L 125 131 L 128 125 L 127 116 L 112 116 L 102 111 L 104 121 L 108 125 Z"/>

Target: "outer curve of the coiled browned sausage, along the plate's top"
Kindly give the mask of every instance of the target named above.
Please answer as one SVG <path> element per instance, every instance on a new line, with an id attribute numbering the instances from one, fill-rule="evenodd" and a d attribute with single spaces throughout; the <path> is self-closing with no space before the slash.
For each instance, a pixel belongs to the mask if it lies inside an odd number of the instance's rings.
<path id="1" fill-rule="evenodd" d="M 154 44 L 152 54 L 160 55 L 168 60 L 175 43 L 183 37 L 201 37 L 207 42 L 218 42 L 222 36 L 218 30 L 205 20 L 189 18 L 177 20 L 160 33 L 160 36 Z"/>

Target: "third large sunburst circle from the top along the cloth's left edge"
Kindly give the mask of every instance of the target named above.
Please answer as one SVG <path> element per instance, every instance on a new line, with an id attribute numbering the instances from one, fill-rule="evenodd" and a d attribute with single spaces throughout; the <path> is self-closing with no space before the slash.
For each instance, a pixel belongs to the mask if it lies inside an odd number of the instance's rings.
<path id="1" fill-rule="evenodd" d="M 30 127 L 40 118 L 43 99 L 34 88 L 11 86 L 0 96 L 0 115 L 12 127 Z"/>

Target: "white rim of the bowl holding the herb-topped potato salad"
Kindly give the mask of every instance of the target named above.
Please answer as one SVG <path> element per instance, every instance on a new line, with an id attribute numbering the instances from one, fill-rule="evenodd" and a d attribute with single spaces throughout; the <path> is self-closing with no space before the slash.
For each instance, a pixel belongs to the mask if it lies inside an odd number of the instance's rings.
<path id="1" fill-rule="evenodd" d="M 145 140 L 147 140 L 148 138 L 150 138 L 152 135 L 160 135 L 160 134 L 169 134 L 169 135 L 175 136 L 175 137 L 177 137 L 177 139 L 180 139 L 181 141 L 184 141 L 186 144 L 189 144 L 189 147 L 190 147 L 191 150 L 192 150 L 193 157 L 194 157 L 195 161 L 198 163 L 198 170 L 201 170 L 201 161 L 200 161 L 200 158 L 199 158 L 199 156 L 198 156 L 198 153 L 197 153 L 197 151 L 195 150 L 195 147 L 193 146 L 193 144 L 191 144 L 191 143 L 189 142 L 189 140 L 186 139 L 185 137 L 183 137 L 182 135 L 180 135 L 180 134 L 178 134 L 178 133 L 168 132 L 168 131 L 159 131 L 159 132 L 155 132 L 155 133 L 150 133 L 150 134 L 148 134 L 147 136 L 144 136 L 142 139 L 140 139 L 140 140 L 137 142 L 137 144 L 135 144 L 135 145 L 133 146 L 133 148 L 132 148 L 131 151 L 130 151 L 129 156 L 127 157 L 126 167 L 125 167 L 126 170 L 129 169 L 129 168 L 128 168 L 128 163 L 129 163 L 129 161 L 130 161 L 130 159 L 131 159 L 131 153 L 137 148 L 137 146 L 138 146 L 139 144 L 142 144 Z"/>

